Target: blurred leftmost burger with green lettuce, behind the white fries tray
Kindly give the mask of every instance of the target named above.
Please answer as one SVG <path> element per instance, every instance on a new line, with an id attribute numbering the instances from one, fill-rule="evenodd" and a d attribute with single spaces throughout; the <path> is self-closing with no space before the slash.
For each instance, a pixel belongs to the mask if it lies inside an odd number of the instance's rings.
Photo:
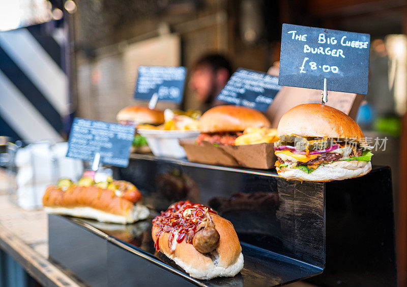
<path id="1" fill-rule="evenodd" d="M 159 109 L 150 109 L 147 106 L 128 106 L 119 111 L 117 121 L 122 125 L 133 125 L 136 128 L 132 152 L 150 152 L 147 140 L 137 133 L 140 124 L 161 125 L 164 123 L 164 112 Z"/>

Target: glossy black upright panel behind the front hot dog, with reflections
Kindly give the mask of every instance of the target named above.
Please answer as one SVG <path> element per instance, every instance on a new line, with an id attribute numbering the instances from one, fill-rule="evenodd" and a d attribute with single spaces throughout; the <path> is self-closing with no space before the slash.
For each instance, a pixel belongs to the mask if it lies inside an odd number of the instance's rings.
<path id="1" fill-rule="evenodd" d="M 275 171 L 226 168 L 140 156 L 119 170 L 156 212 L 178 200 L 209 205 L 230 220 L 239 240 L 322 267 L 324 184 L 287 181 Z"/>

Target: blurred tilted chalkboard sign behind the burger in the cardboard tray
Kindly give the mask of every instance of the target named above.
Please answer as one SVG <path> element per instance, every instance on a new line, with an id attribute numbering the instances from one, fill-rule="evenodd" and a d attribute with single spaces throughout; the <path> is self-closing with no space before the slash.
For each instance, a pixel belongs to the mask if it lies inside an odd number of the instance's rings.
<path id="1" fill-rule="evenodd" d="M 266 111 L 280 89 L 278 77 L 239 68 L 230 77 L 217 100 Z"/>

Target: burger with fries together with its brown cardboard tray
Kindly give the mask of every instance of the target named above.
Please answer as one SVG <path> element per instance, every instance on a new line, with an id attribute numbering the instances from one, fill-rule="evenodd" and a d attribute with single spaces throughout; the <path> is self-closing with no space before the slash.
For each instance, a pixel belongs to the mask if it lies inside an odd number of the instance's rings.
<path id="1" fill-rule="evenodd" d="M 275 157 L 276 129 L 258 110 L 235 105 L 216 106 L 199 119 L 195 141 L 181 140 L 190 161 L 269 169 Z"/>

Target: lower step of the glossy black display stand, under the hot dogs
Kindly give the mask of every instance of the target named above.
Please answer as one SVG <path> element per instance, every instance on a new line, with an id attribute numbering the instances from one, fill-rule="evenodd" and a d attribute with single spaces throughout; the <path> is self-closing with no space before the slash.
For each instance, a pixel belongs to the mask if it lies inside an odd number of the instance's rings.
<path id="1" fill-rule="evenodd" d="M 237 276 L 198 280 L 155 252 L 151 220 L 124 227 L 49 215 L 50 256 L 94 286 L 275 286 L 322 272 L 321 268 L 242 243 L 245 264 Z"/>

